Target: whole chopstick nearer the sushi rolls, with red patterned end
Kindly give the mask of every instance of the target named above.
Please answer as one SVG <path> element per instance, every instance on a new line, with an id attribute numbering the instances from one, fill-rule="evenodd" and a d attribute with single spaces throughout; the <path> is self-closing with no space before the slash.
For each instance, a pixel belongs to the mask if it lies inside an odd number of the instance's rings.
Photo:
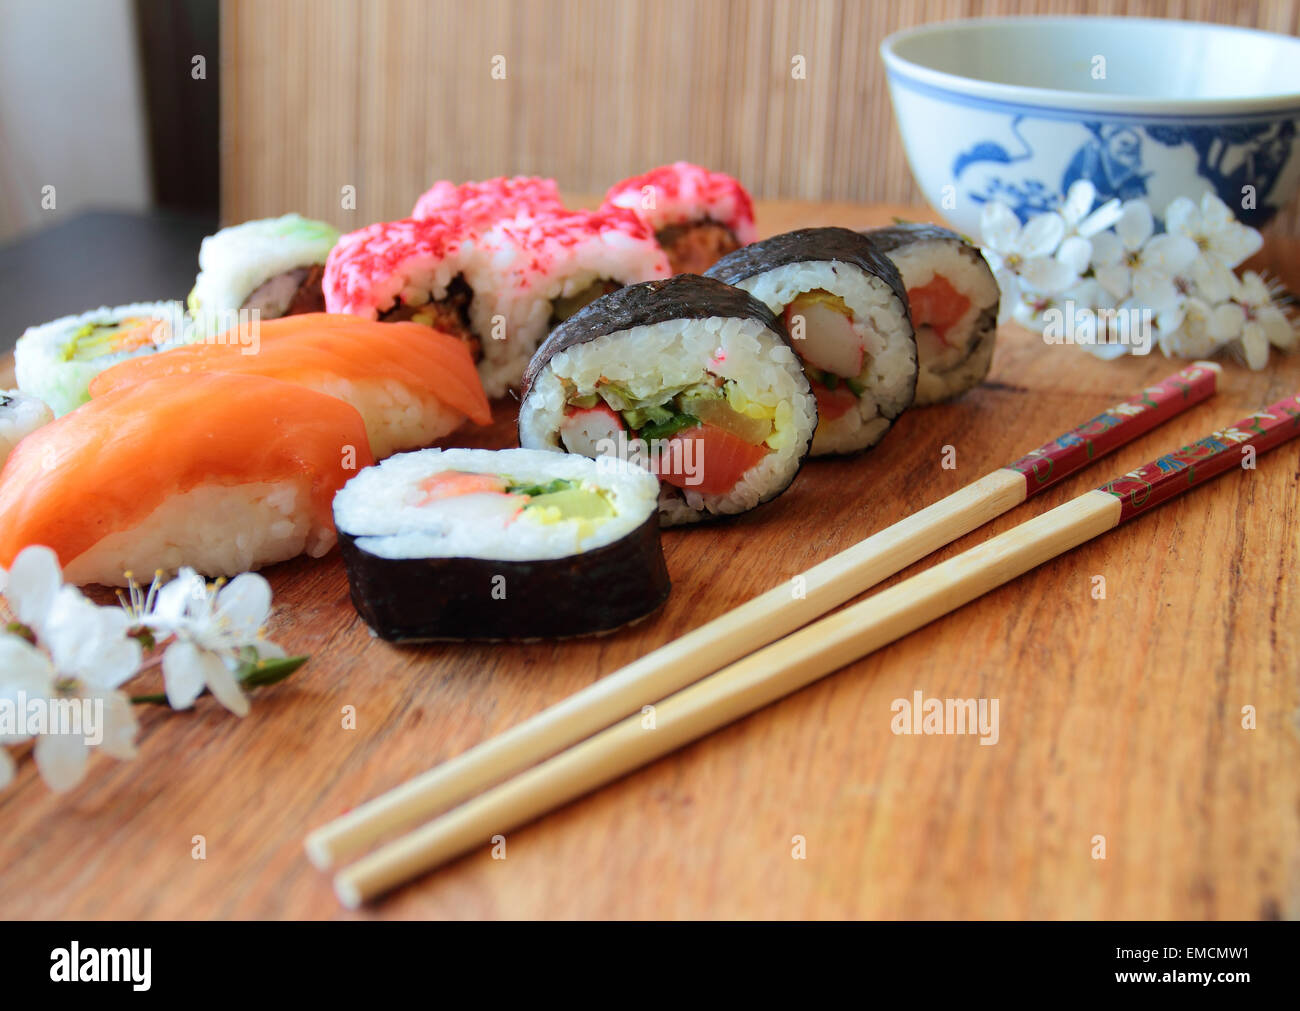
<path id="1" fill-rule="evenodd" d="M 641 707 L 775 642 L 944 544 L 983 526 L 1093 460 L 1212 396 L 1219 366 L 1197 361 L 1008 467 L 779 583 L 402 786 L 312 832 L 307 855 L 328 869 L 382 836 L 602 730 Z M 796 593 L 796 587 L 798 593 Z"/>

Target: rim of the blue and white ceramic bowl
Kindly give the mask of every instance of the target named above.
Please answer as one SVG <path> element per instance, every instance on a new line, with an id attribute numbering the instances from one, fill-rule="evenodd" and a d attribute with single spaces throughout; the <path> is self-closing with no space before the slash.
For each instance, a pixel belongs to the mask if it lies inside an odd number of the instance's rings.
<path id="1" fill-rule="evenodd" d="M 1258 97 L 1219 97 L 1219 99 L 1148 99 L 1136 95 L 1098 95 L 1092 91 L 1069 91 L 1062 88 L 1040 88 L 1031 84 L 1006 84 L 993 81 L 980 81 L 948 70 L 935 70 L 914 62 L 898 53 L 897 47 L 923 35 L 952 31 L 954 29 L 982 29 L 1009 25 L 1097 25 L 1109 23 L 1115 27 L 1147 25 L 1150 27 L 1179 25 L 1197 30 L 1232 32 L 1238 35 L 1257 35 L 1274 42 L 1296 47 L 1300 57 L 1300 39 L 1275 31 L 1248 29 L 1239 25 L 1219 25 L 1212 21 L 1184 21 L 1182 18 L 1147 18 L 1097 14 L 1022 14 L 1013 17 L 952 18 L 930 25 L 902 29 L 885 36 L 880 43 L 880 57 L 890 81 L 897 79 L 905 86 L 919 86 L 916 90 L 941 92 L 958 100 L 976 99 L 980 104 L 1018 105 L 1027 109 L 1060 109 L 1079 114 L 1101 112 L 1174 116 L 1178 118 L 1223 118 L 1232 116 L 1256 116 L 1262 113 L 1300 114 L 1300 91 Z M 971 104 L 967 101 L 967 104 Z"/>

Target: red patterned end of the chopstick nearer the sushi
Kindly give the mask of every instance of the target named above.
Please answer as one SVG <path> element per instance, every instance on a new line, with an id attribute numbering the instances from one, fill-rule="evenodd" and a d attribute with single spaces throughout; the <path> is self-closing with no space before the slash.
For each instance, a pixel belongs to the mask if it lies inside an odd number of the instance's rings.
<path id="1" fill-rule="evenodd" d="M 1024 495 L 1036 495 L 1093 460 L 1214 395 L 1219 366 L 1197 361 L 1091 421 L 1022 456 L 1008 470 L 1024 476 Z"/>

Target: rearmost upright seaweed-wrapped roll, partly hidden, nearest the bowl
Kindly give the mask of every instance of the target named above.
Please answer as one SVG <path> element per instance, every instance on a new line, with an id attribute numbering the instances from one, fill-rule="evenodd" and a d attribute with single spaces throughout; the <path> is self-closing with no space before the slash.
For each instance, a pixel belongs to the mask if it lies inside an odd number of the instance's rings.
<path id="1" fill-rule="evenodd" d="M 863 233 L 902 275 L 916 330 L 916 403 L 966 392 L 988 376 L 1001 292 L 988 261 L 956 231 L 896 225 Z"/>

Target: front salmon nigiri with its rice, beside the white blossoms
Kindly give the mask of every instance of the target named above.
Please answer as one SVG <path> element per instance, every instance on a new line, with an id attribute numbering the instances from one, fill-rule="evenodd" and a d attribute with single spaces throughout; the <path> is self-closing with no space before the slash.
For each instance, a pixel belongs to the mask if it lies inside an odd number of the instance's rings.
<path id="1" fill-rule="evenodd" d="M 335 541 L 373 463 L 356 409 L 261 376 L 164 376 L 36 429 L 0 470 L 0 567 L 46 544 L 69 582 L 188 565 L 234 576 Z"/>

